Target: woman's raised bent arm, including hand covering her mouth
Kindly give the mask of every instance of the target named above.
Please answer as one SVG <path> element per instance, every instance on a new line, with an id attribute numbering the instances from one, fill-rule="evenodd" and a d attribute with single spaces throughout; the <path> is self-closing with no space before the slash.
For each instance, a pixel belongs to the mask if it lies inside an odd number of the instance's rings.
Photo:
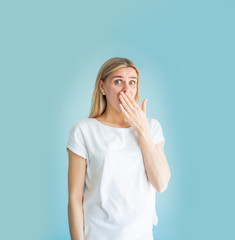
<path id="1" fill-rule="evenodd" d="M 139 107 L 133 97 L 127 92 L 120 94 L 120 100 L 120 108 L 123 114 L 139 135 L 148 180 L 156 191 L 164 192 L 170 180 L 171 173 L 163 149 L 164 143 L 154 144 L 148 129 L 146 119 L 147 99 L 144 99 L 142 108 Z"/>

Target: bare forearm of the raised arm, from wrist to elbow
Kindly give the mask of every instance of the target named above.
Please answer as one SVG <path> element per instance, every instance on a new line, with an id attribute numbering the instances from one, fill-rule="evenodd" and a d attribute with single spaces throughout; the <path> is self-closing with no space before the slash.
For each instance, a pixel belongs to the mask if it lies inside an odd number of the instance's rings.
<path id="1" fill-rule="evenodd" d="M 147 128 L 138 135 L 148 180 L 158 192 L 162 192 L 170 179 L 170 168 L 163 147 L 154 144 Z"/>

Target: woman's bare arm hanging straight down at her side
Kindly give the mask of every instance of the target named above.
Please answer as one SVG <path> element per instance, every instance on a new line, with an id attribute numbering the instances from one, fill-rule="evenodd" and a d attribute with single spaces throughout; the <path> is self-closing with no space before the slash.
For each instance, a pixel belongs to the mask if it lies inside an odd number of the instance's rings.
<path id="1" fill-rule="evenodd" d="M 84 240 L 83 190 L 86 159 L 68 149 L 68 217 L 71 240 Z"/>

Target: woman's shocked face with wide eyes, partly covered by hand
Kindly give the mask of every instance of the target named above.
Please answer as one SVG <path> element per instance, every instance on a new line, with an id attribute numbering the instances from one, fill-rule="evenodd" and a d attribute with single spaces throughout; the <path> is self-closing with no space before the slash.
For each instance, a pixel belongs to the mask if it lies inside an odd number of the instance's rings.
<path id="1" fill-rule="evenodd" d="M 105 82 L 100 81 L 100 88 L 105 92 L 107 104 L 121 112 L 119 95 L 127 92 L 134 99 L 137 93 L 137 73 L 132 67 L 119 68 L 109 74 Z"/>

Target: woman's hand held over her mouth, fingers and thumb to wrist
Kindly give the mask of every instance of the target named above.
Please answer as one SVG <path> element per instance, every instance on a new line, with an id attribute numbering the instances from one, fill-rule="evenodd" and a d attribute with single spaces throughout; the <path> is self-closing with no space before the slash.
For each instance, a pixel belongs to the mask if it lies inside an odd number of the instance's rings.
<path id="1" fill-rule="evenodd" d="M 142 108 L 137 102 L 126 92 L 121 92 L 119 95 L 121 103 L 120 108 L 125 115 L 128 123 L 138 132 L 141 133 L 148 129 L 146 119 L 146 102 L 145 98 L 142 103 Z"/>

